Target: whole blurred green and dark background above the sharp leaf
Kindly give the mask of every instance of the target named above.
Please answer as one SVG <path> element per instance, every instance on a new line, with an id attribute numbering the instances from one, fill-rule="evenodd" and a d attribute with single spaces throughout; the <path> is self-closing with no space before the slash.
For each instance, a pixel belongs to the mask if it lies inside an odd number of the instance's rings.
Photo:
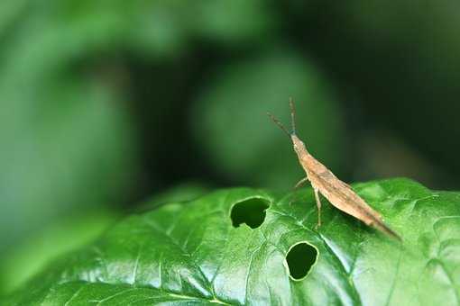
<path id="1" fill-rule="evenodd" d="M 460 189 L 458 1 L 0 2 L 0 293 L 124 213 L 217 187 Z M 145 204 L 149 200 L 149 204 Z"/>

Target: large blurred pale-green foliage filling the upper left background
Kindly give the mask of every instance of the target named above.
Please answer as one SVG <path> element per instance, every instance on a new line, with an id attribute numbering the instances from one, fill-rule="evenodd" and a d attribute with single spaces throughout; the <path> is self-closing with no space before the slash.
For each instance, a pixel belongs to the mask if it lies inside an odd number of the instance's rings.
<path id="1" fill-rule="evenodd" d="M 197 37 L 244 43 L 270 27 L 262 1 L 197 5 L 0 4 L 0 251 L 69 210 L 129 198 L 140 144 L 120 58 L 158 63 Z"/>

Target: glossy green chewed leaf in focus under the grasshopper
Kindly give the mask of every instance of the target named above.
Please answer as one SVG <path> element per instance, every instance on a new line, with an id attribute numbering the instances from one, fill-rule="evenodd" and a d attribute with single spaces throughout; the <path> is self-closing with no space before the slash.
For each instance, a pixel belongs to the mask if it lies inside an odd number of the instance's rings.
<path id="1" fill-rule="evenodd" d="M 433 192 L 407 179 L 355 184 L 354 189 L 382 212 L 402 244 L 329 204 L 323 205 L 324 224 L 316 230 L 311 188 L 289 194 L 221 190 L 129 216 L 5 302 L 460 302 L 460 193 Z M 265 211 L 257 209 L 261 203 L 268 206 Z M 262 214 L 262 224 L 235 227 L 231 215 L 237 204 L 253 207 L 248 216 Z"/>

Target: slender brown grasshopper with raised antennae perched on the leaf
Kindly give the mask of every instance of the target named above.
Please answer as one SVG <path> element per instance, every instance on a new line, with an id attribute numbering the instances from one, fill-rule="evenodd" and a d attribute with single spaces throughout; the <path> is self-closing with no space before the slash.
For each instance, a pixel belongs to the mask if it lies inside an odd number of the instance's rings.
<path id="1" fill-rule="evenodd" d="M 382 221 L 381 215 L 364 202 L 358 194 L 354 193 L 349 184 L 345 184 L 339 180 L 326 166 L 308 153 L 305 144 L 296 134 L 296 111 L 292 99 L 290 99 L 291 132 L 284 127 L 281 121 L 271 115 L 271 113 L 268 113 L 268 115 L 292 140 L 294 151 L 297 157 L 299 157 L 300 166 L 303 167 L 307 174 L 305 178 L 301 179 L 299 183 L 296 184 L 296 188 L 308 181 L 310 181 L 313 187 L 317 202 L 317 227 L 321 226 L 321 200 L 318 194 L 321 193 L 339 210 L 345 211 L 358 220 L 362 220 L 368 226 L 381 230 L 392 238 L 401 240 L 400 236 Z"/>

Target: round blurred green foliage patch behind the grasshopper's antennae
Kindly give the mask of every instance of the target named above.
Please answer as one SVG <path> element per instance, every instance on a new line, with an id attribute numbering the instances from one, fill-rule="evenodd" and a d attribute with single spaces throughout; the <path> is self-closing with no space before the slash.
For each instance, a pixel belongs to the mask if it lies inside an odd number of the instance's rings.
<path id="1" fill-rule="evenodd" d="M 193 109 L 197 142 L 217 171 L 234 180 L 287 188 L 301 178 L 290 140 L 266 116 L 290 124 L 288 99 L 298 101 L 298 130 L 312 154 L 343 169 L 340 107 L 324 76 L 290 49 L 276 49 L 221 68 Z M 337 154 L 342 152 L 342 154 Z"/>

